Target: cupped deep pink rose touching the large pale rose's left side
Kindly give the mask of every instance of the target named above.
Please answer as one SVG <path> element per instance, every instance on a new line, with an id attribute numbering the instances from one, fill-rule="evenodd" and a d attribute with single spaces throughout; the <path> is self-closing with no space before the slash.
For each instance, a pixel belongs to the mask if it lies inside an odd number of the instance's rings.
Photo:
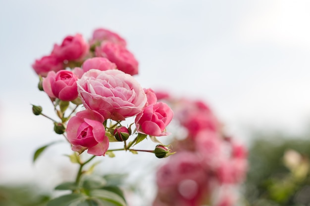
<path id="1" fill-rule="evenodd" d="M 76 81 L 77 77 L 71 71 L 49 72 L 43 80 L 43 89 L 52 98 L 72 101 L 78 97 Z"/>

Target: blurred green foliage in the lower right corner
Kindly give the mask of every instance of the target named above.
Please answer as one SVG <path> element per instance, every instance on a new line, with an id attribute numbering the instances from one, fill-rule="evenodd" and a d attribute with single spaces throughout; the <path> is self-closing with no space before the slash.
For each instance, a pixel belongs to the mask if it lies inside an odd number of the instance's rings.
<path id="1" fill-rule="evenodd" d="M 279 133 L 257 135 L 249 149 L 249 172 L 245 182 L 245 199 L 249 205 L 310 205 L 309 137 L 308 134 L 305 137 Z M 288 150 L 300 155 L 302 161 L 297 168 L 285 164 L 284 156 Z M 297 161 L 293 163 L 297 164 Z"/>

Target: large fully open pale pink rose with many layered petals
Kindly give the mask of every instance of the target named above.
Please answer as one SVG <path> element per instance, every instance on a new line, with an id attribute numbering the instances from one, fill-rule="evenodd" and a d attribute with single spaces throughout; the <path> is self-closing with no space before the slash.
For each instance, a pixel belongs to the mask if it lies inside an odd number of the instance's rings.
<path id="1" fill-rule="evenodd" d="M 143 88 L 132 76 L 119 70 L 91 69 L 77 81 L 86 108 L 105 119 L 125 120 L 141 112 L 147 102 Z"/>

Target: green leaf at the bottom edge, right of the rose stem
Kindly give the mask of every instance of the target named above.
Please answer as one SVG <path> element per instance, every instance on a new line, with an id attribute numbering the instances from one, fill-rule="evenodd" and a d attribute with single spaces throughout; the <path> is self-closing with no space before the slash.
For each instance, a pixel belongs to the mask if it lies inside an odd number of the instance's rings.
<path id="1" fill-rule="evenodd" d="M 127 206 L 126 202 L 121 196 L 111 191 L 93 190 L 90 192 L 90 196 L 104 202 L 112 203 L 111 206 Z"/>

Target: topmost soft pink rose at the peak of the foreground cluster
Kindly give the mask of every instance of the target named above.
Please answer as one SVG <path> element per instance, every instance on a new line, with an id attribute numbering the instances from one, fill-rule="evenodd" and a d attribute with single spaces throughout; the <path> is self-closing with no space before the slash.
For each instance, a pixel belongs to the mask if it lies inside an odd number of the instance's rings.
<path id="1" fill-rule="evenodd" d="M 93 33 L 93 38 L 91 39 L 90 43 L 93 44 L 102 41 L 111 41 L 113 43 L 118 43 L 126 46 L 126 41 L 118 34 L 103 28 L 96 29 Z"/>

